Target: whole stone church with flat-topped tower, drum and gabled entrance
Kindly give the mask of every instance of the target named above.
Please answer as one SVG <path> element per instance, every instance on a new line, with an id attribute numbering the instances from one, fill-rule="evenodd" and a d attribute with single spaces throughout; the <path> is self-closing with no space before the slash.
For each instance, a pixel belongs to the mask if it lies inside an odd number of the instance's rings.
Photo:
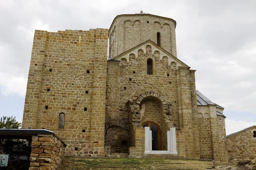
<path id="1" fill-rule="evenodd" d="M 36 30 L 22 128 L 54 131 L 69 156 L 227 161 L 224 108 L 196 91 L 175 27 L 141 12 L 109 30 Z"/>

